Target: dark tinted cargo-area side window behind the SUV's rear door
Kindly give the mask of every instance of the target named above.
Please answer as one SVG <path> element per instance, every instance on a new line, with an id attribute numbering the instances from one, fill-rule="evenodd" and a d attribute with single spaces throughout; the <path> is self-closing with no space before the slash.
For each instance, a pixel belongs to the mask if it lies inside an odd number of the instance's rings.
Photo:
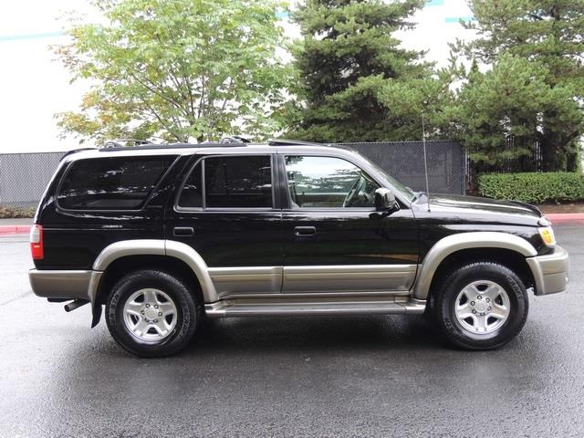
<path id="1" fill-rule="evenodd" d="M 59 206 L 72 210 L 137 210 L 175 156 L 110 157 L 79 160 L 57 193 Z"/>

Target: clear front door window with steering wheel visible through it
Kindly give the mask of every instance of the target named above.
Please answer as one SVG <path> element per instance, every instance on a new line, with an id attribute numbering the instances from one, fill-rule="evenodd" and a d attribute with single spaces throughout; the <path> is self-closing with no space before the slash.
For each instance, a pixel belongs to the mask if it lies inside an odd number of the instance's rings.
<path id="1" fill-rule="evenodd" d="M 293 208 L 373 207 L 380 187 L 359 167 L 334 157 L 286 156 Z"/>

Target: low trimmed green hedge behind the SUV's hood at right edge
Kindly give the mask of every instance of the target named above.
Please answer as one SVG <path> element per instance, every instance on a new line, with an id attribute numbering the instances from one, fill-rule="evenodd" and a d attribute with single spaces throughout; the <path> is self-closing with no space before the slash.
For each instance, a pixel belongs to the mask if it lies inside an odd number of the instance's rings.
<path id="1" fill-rule="evenodd" d="M 524 203 L 584 200 L 584 175 L 579 172 L 488 173 L 479 175 L 484 196 Z"/>

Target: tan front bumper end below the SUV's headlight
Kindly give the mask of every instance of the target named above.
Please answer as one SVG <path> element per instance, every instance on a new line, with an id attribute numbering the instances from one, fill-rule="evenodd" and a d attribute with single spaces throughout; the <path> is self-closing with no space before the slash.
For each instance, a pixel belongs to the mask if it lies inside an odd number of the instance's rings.
<path id="1" fill-rule="evenodd" d="M 536 283 L 537 296 L 566 290 L 569 268 L 568 251 L 561 246 L 556 246 L 551 254 L 527 257 L 526 260 Z"/>

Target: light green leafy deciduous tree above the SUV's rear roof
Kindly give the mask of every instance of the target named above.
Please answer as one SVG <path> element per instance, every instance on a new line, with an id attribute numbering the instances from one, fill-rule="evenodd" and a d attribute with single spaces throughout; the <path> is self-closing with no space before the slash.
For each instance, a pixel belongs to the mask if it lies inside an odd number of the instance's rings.
<path id="1" fill-rule="evenodd" d="M 287 67 L 274 0 L 96 0 L 107 24 L 75 24 L 57 54 L 95 84 L 80 110 L 57 115 L 64 135 L 98 142 L 265 136 Z"/>

